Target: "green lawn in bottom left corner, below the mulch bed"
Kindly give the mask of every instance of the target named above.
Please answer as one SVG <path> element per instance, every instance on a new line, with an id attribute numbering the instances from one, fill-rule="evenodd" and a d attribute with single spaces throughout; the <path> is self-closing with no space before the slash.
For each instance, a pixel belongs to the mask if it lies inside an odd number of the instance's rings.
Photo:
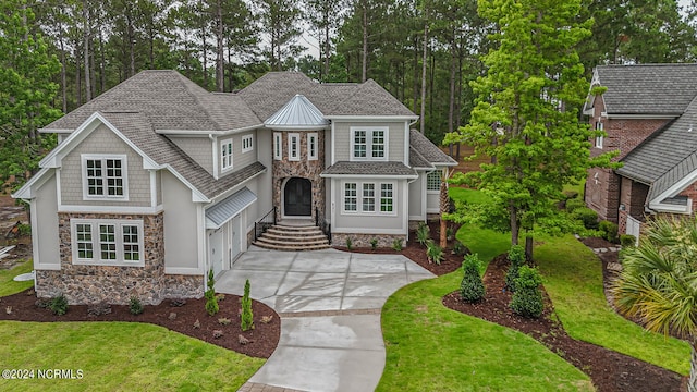
<path id="1" fill-rule="evenodd" d="M 135 322 L 2 321 L 0 341 L 4 369 L 83 371 L 78 380 L 0 380 L 2 391 L 236 391 L 265 363 Z"/>

